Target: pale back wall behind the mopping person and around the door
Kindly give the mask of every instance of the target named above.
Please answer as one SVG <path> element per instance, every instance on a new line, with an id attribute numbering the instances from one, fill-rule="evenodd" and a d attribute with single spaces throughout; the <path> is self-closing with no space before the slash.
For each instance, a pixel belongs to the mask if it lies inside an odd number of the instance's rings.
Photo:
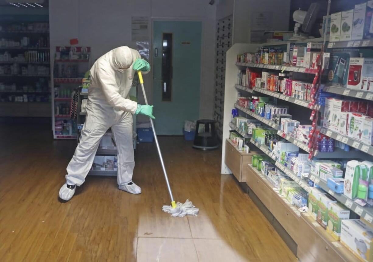
<path id="1" fill-rule="evenodd" d="M 92 63 L 115 47 L 135 48 L 131 39 L 131 16 L 202 21 L 200 118 L 212 118 L 215 49 L 211 47 L 214 47 L 216 6 L 210 6 L 207 0 L 49 1 L 50 45 L 52 48 L 69 45 L 71 38 L 78 38 L 78 45 L 91 47 Z M 144 81 L 150 83 L 151 74 Z M 150 87 L 147 94 L 152 97 Z"/>

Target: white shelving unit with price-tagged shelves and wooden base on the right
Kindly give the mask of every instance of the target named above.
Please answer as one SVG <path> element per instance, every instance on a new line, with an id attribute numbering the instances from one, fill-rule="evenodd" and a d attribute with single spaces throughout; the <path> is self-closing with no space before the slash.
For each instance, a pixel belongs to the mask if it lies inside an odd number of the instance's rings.
<path id="1" fill-rule="evenodd" d="M 302 41 L 297 41 L 302 43 Z M 307 43 L 307 40 L 303 41 Z M 288 42 L 276 42 L 276 44 L 269 45 L 288 45 Z M 341 43 L 328 44 L 329 48 L 337 48 Z M 311 150 L 307 145 L 303 144 L 301 141 L 298 141 L 289 134 L 284 133 L 279 124 L 261 117 L 258 114 L 255 114 L 248 108 L 244 108 L 237 103 L 238 92 L 241 94 L 241 97 L 250 97 L 253 95 L 261 97 L 272 97 L 277 99 L 278 105 L 288 105 L 294 111 L 307 112 L 301 114 L 293 114 L 293 119 L 300 121 L 301 123 L 306 122 L 310 124 L 309 116 L 311 111 L 316 108 L 314 105 L 310 105 L 309 101 L 297 99 L 294 97 L 286 96 L 279 94 L 277 92 L 269 91 L 261 87 L 253 87 L 252 89 L 237 84 L 237 73 L 239 70 L 244 70 L 245 68 L 256 68 L 258 69 L 269 69 L 269 70 L 280 70 L 280 72 L 292 72 L 292 77 L 294 79 L 312 79 L 312 75 L 317 75 L 316 69 L 305 69 L 300 67 L 293 66 L 276 66 L 276 65 L 264 65 L 264 64 L 254 64 L 254 63 L 237 63 L 237 55 L 253 52 L 255 53 L 257 48 L 260 46 L 266 46 L 266 44 L 234 44 L 226 53 L 226 75 L 225 75 L 225 92 L 224 92 L 224 123 L 223 123 L 223 141 L 229 141 L 231 130 L 235 130 L 242 137 L 247 138 L 247 134 L 243 133 L 241 130 L 238 130 L 237 127 L 231 122 L 232 119 L 232 109 L 236 108 L 239 112 L 239 116 L 247 117 L 249 119 L 256 119 L 261 122 L 265 127 L 272 128 L 277 130 L 277 135 L 280 138 L 293 143 L 302 149 L 305 153 L 309 153 Z M 372 101 L 373 93 L 372 92 L 358 92 L 350 90 L 347 88 L 338 88 L 334 86 L 321 86 L 324 91 L 343 95 L 345 97 L 353 97 L 358 100 L 369 100 Z M 236 92 L 234 92 L 236 91 Z M 323 112 L 323 107 L 317 105 L 320 109 L 320 113 Z M 303 109 L 302 109 L 303 108 Z M 305 111 L 304 111 L 305 110 Z M 313 152 L 313 158 L 333 160 L 333 159 L 361 159 L 372 161 L 373 155 L 373 146 L 363 144 L 360 141 L 357 141 L 347 136 L 343 136 L 326 128 L 320 127 L 319 132 L 329 136 L 330 138 L 335 139 L 336 141 L 341 141 L 351 148 L 358 149 L 358 151 L 344 151 L 339 148 L 336 148 L 334 152 Z M 307 174 L 306 177 L 299 177 L 292 170 L 285 165 L 281 164 L 279 161 L 276 161 L 276 157 L 270 150 L 268 146 L 261 145 L 251 139 L 250 144 L 256 146 L 258 151 L 261 154 L 268 155 L 273 159 L 273 164 L 285 173 L 288 177 L 295 181 L 298 186 L 303 188 L 306 192 L 310 192 L 313 187 L 311 187 L 305 179 L 309 179 L 314 182 L 321 189 L 325 190 L 329 195 L 333 196 L 337 202 L 341 203 L 350 210 L 352 218 L 361 217 L 371 225 L 373 222 L 373 207 L 369 206 L 360 206 L 351 199 L 348 199 L 343 193 L 338 194 L 333 192 L 327 186 L 325 180 L 320 179 L 312 174 Z M 239 165 L 238 161 L 227 162 L 228 151 L 231 150 L 232 146 L 235 146 L 231 143 L 231 147 L 227 147 L 227 143 L 223 143 L 222 146 L 222 174 L 229 174 L 235 172 L 232 168 L 232 163 Z M 229 168 L 230 166 L 231 168 Z M 242 169 L 241 166 L 237 168 Z M 294 242 L 297 244 L 297 256 L 301 261 L 308 261 L 309 259 L 316 259 L 315 261 L 358 261 L 358 258 L 353 255 L 350 250 L 341 244 L 339 241 L 335 241 L 330 234 L 326 232 L 320 225 L 315 222 L 308 213 L 301 213 L 298 211 L 295 206 L 291 205 L 288 200 L 281 196 L 278 192 L 278 189 L 274 187 L 269 180 L 264 176 L 260 171 L 253 168 L 250 164 L 247 165 L 247 171 L 244 173 L 247 174 L 247 177 L 242 180 L 246 181 L 250 190 L 255 193 L 255 195 L 260 199 L 260 202 L 272 213 L 273 217 L 276 218 L 286 232 L 291 236 Z M 234 174 L 236 176 L 236 174 Z M 237 177 L 237 176 L 236 176 Z M 241 181 L 241 180 L 239 180 Z M 302 236 L 299 235 L 302 234 Z M 303 234 L 304 233 L 304 234 Z M 317 249 L 313 250 L 311 246 L 319 246 Z"/>

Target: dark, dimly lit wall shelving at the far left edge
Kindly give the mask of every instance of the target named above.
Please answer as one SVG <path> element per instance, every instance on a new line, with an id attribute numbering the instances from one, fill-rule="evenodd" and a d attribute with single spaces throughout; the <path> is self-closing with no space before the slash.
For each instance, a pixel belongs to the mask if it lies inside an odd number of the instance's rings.
<path id="1" fill-rule="evenodd" d="M 50 116 L 48 27 L 48 22 L 1 22 L 0 117 Z"/>

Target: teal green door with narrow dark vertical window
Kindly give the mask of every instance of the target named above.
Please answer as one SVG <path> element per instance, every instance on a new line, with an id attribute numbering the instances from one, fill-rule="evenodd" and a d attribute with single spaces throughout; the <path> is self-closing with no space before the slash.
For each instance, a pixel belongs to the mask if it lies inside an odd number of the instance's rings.
<path id="1" fill-rule="evenodd" d="M 154 21 L 152 71 L 157 135 L 182 135 L 199 116 L 201 22 Z"/>

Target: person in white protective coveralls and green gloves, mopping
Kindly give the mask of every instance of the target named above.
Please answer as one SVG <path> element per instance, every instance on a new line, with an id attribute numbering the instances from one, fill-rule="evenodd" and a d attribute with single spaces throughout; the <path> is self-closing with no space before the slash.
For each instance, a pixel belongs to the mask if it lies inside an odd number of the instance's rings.
<path id="1" fill-rule="evenodd" d="M 66 183 L 60 189 L 61 199 L 68 201 L 76 186 L 84 183 L 102 136 L 112 129 L 118 149 L 118 187 L 132 194 L 141 188 L 132 182 L 135 167 L 132 143 L 132 114 L 144 114 L 154 119 L 152 105 L 140 105 L 129 100 L 135 72 L 148 73 L 150 66 L 137 50 L 118 47 L 101 56 L 93 64 L 88 88 L 87 117 L 81 140 L 69 162 Z"/>

